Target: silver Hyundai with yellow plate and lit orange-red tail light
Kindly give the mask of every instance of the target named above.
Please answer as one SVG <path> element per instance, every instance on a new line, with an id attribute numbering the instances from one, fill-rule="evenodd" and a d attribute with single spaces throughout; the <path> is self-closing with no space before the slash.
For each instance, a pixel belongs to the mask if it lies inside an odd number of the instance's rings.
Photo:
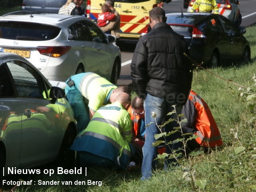
<path id="1" fill-rule="evenodd" d="M 48 80 L 94 72 L 116 84 L 121 70 L 120 49 L 84 16 L 14 12 L 0 17 L 0 51 L 30 61 Z"/>

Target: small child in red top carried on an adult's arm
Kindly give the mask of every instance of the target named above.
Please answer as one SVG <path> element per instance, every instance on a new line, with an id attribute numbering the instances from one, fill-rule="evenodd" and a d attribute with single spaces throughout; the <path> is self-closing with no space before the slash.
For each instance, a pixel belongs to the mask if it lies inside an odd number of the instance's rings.
<path id="1" fill-rule="evenodd" d="M 101 10 L 102 13 L 98 15 L 98 26 L 106 26 L 110 21 L 114 21 L 116 19 L 116 15 L 110 12 L 110 8 L 107 4 L 103 4 L 101 6 Z"/>

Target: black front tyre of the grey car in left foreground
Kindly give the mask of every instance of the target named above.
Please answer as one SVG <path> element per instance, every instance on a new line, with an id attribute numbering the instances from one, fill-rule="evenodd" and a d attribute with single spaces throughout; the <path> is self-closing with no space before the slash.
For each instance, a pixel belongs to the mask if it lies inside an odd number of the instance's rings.
<path id="1" fill-rule="evenodd" d="M 63 167 L 72 167 L 74 166 L 74 160 L 75 160 L 75 151 L 70 150 L 70 146 L 74 142 L 74 139 L 76 138 L 76 131 L 72 126 L 68 126 L 64 138 L 62 140 L 62 145 L 60 147 L 60 152 L 58 154 L 58 157 L 56 159 L 56 164 L 58 166 Z"/>

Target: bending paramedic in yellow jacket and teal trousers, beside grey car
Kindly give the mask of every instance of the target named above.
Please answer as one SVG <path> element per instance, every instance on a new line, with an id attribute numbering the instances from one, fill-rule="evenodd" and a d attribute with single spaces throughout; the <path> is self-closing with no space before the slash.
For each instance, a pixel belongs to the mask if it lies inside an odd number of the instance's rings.
<path id="1" fill-rule="evenodd" d="M 73 75 L 66 81 L 66 84 L 65 92 L 74 111 L 78 132 L 86 128 L 90 119 L 100 107 L 113 103 L 116 96 L 121 92 L 130 94 L 128 86 L 117 87 L 92 72 Z M 87 99 L 86 103 L 84 98 Z"/>

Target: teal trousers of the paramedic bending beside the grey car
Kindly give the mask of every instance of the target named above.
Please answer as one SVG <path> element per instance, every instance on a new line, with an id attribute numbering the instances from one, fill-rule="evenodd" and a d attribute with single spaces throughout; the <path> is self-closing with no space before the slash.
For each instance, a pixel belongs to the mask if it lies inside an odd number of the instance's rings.
<path id="1" fill-rule="evenodd" d="M 90 122 L 90 115 L 84 103 L 84 97 L 77 90 L 76 86 L 66 86 L 65 92 L 68 102 L 73 109 L 74 118 L 76 119 L 76 126 L 79 133 L 84 130 Z"/>

